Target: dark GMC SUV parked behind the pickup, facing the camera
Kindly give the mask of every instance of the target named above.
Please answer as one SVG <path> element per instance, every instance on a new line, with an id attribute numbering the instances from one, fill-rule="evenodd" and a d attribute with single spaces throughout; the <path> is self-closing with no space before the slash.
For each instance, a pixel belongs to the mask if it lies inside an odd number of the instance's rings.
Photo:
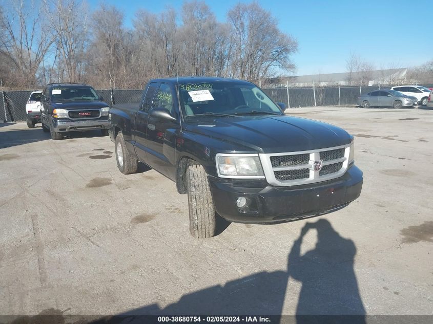
<path id="1" fill-rule="evenodd" d="M 66 132 L 100 129 L 108 135 L 109 106 L 85 83 L 50 83 L 42 96 L 42 129 L 53 140 Z"/>

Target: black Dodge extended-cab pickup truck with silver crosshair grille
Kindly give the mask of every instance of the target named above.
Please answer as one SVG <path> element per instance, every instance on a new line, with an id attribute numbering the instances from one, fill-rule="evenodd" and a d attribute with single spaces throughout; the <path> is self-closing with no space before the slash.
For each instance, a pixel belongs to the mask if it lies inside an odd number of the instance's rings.
<path id="1" fill-rule="evenodd" d="M 109 134 L 123 174 L 141 161 L 188 193 L 198 238 L 215 234 L 217 217 L 280 223 L 357 199 L 353 136 L 283 109 L 247 81 L 155 79 L 138 104 L 113 105 Z"/>

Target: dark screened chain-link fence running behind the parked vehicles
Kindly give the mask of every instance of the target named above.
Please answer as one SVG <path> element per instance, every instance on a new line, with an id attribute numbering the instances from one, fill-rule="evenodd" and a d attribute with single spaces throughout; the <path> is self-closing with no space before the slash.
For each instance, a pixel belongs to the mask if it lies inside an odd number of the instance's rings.
<path id="1" fill-rule="evenodd" d="M 433 88 L 433 84 L 424 85 Z M 275 102 L 282 102 L 287 107 L 307 106 L 338 106 L 356 104 L 358 96 L 379 89 L 390 89 L 391 86 L 381 87 L 318 87 L 318 88 L 265 88 L 263 91 Z M 139 102 L 142 90 L 96 90 L 109 106 L 116 103 Z M 5 91 L 0 93 L 0 122 L 26 120 L 26 103 L 31 91 Z M 5 116 L 6 112 L 6 116 Z"/>

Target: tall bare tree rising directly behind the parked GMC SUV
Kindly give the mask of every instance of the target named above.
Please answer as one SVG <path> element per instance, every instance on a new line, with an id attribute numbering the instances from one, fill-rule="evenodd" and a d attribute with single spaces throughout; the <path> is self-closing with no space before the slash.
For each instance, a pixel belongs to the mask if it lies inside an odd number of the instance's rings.
<path id="1" fill-rule="evenodd" d="M 59 68 L 68 81 L 79 81 L 83 75 L 84 51 L 87 45 L 87 5 L 78 0 L 44 0 L 51 35 L 55 39 Z M 60 75 L 63 79 L 64 76 Z"/>

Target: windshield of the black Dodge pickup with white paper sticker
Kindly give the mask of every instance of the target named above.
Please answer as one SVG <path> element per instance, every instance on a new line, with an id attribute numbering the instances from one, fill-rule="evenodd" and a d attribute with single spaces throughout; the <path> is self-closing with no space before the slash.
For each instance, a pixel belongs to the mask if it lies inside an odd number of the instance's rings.
<path id="1" fill-rule="evenodd" d="M 254 84 L 181 83 L 179 97 L 186 117 L 214 116 L 214 114 L 282 115 L 279 106 Z"/>

